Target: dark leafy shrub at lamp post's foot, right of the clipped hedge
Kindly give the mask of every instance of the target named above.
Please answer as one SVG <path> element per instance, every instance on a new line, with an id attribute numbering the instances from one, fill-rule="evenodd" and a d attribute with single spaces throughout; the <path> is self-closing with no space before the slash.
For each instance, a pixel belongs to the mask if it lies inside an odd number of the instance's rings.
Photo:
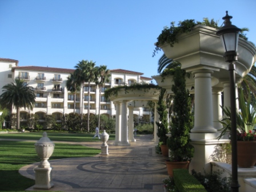
<path id="1" fill-rule="evenodd" d="M 197 173 L 195 170 L 191 174 L 205 187 L 208 192 L 230 192 L 230 178 L 221 177 L 222 171 L 214 171 L 211 173 Z"/>

